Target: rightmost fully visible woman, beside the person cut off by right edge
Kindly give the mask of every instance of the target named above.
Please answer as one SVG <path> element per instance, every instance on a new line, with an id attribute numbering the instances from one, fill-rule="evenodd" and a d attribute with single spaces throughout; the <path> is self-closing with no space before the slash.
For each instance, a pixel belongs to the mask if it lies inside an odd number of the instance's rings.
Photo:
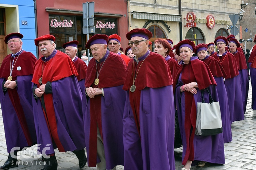
<path id="1" fill-rule="evenodd" d="M 230 53 L 234 55 L 237 61 L 237 67 L 239 71 L 241 90 L 242 90 L 243 109 L 245 114 L 248 91 L 249 91 L 249 79 L 248 79 L 247 64 L 246 64 L 244 54 L 238 51 L 237 48 L 240 48 L 240 43 L 238 42 L 238 40 L 236 38 L 230 38 L 229 50 L 230 50 Z"/>

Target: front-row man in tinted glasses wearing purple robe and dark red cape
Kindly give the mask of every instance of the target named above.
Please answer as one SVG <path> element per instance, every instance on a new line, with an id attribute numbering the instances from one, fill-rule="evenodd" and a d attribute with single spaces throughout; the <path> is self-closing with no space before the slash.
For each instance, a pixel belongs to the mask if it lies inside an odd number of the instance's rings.
<path id="1" fill-rule="evenodd" d="M 126 34 L 135 56 L 123 87 L 125 169 L 175 169 L 172 76 L 165 59 L 148 50 L 151 37 L 147 29 Z"/>

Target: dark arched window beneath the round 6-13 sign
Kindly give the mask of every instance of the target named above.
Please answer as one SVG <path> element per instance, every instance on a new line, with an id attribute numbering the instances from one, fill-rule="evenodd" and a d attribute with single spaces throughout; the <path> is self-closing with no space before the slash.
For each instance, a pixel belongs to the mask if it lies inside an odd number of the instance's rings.
<path id="1" fill-rule="evenodd" d="M 185 39 L 194 41 L 195 45 L 198 45 L 200 43 L 204 44 L 204 36 L 202 32 L 196 27 L 190 28 L 188 30 Z"/>

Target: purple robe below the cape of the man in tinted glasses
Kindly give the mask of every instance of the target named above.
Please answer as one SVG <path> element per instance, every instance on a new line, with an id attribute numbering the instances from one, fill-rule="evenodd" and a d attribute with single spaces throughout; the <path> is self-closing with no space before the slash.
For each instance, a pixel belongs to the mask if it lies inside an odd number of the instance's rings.
<path id="1" fill-rule="evenodd" d="M 127 91 L 123 118 L 124 169 L 175 169 L 172 85 L 160 88 L 146 87 L 141 90 L 141 138 L 134 121 L 129 92 Z"/>

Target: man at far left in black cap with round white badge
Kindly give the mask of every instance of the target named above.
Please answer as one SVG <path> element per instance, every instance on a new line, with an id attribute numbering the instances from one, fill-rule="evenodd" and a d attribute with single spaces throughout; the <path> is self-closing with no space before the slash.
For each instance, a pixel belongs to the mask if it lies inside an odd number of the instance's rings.
<path id="1" fill-rule="evenodd" d="M 0 103 L 9 156 L 0 169 L 17 167 L 17 151 L 37 142 L 31 93 L 33 66 L 37 58 L 22 49 L 22 38 L 20 33 L 11 33 L 4 38 L 12 52 L 3 59 L 0 68 Z"/>

